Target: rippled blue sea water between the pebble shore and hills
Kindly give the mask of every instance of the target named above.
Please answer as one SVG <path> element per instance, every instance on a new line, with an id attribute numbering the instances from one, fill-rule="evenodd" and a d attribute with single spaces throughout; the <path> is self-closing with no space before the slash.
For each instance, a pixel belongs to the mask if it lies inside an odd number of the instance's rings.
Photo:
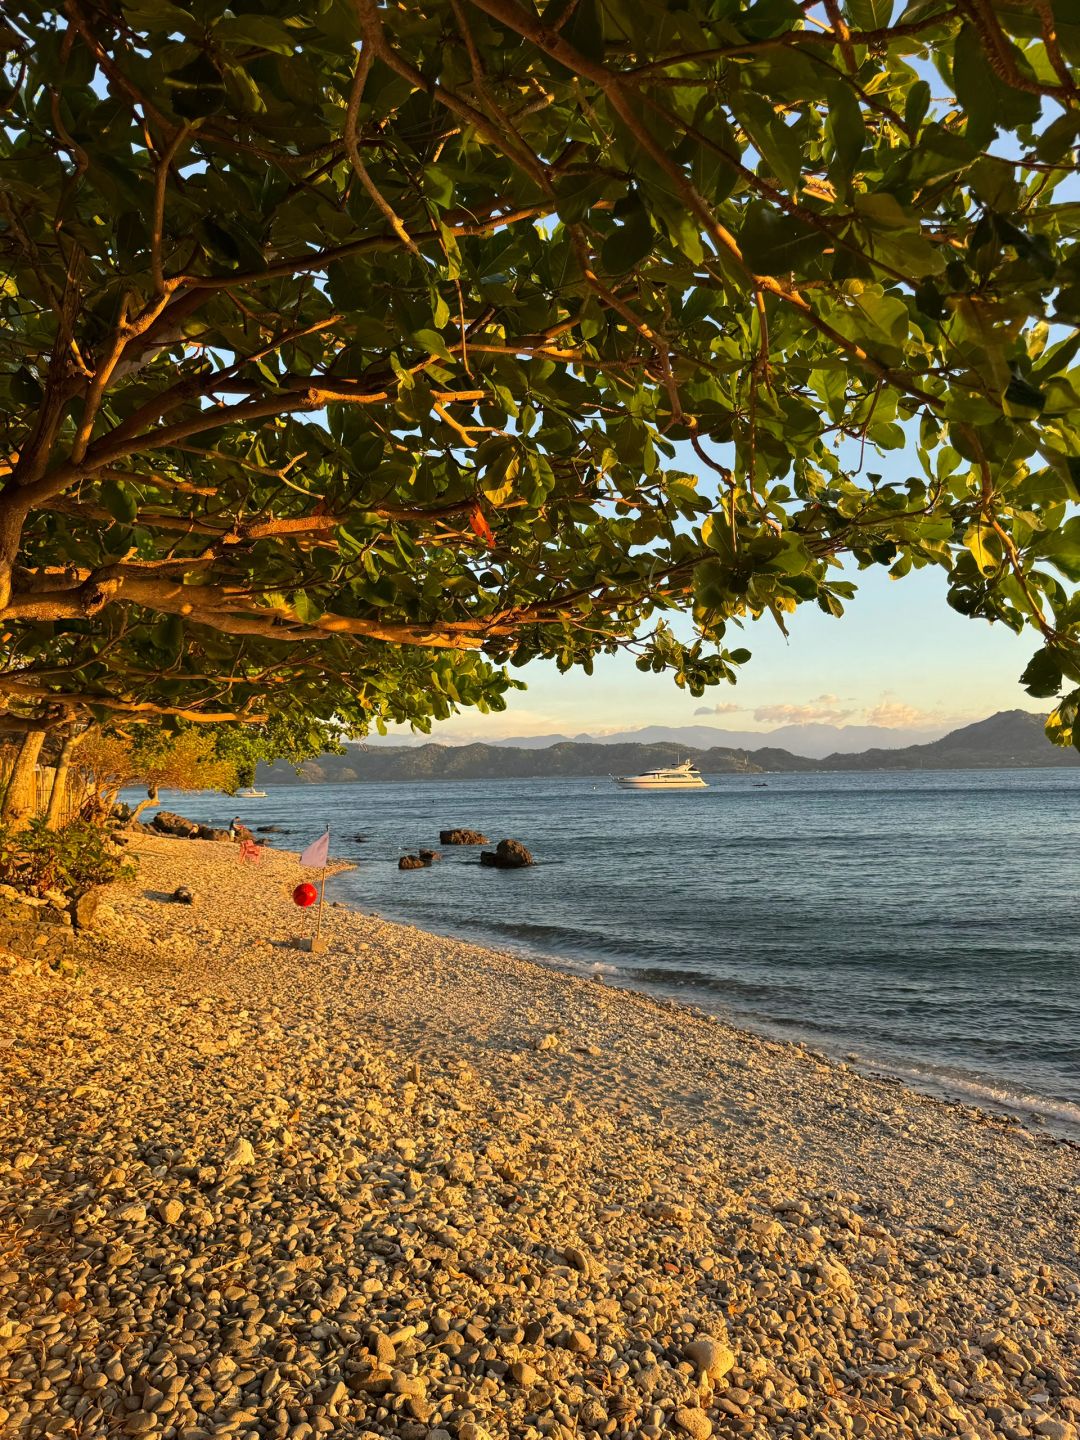
<path id="1" fill-rule="evenodd" d="M 328 824 L 328 899 L 602 973 L 973 1103 L 1080 1128 L 1080 770 L 276 786 L 193 819 Z M 439 829 L 521 840 L 482 868 Z"/>

